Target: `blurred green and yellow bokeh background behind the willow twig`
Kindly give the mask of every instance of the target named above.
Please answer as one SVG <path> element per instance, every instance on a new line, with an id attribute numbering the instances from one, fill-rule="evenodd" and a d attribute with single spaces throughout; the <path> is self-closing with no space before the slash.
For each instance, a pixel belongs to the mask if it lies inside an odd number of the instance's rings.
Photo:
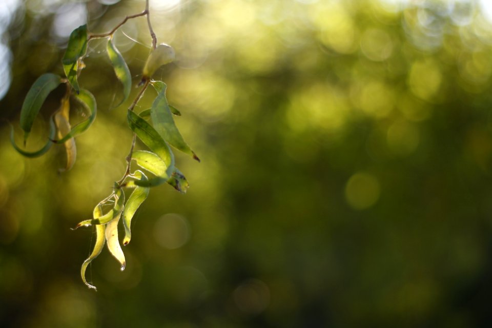
<path id="1" fill-rule="evenodd" d="M 70 228 L 111 192 L 131 144 L 105 40 L 90 42 L 79 79 L 98 117 L 72 171 L 57 173 L 62 147 L 18 155 L 6 121 L 20 140 L 23 99 L 40 74 L 63 74 L 74 28 L 107 32 L 144 8 L 0 3 L 0 326 L 492 325 L 487 0 L 151 1 L 158 42 L 177 56 L 154 78 L 201 163 L 176 152 L 188 193 L 152 189 L 126 270 L 105 249 L 87 289 L 93 230 Z M 134 86 L 146 24 L 115 34 Z M 48 97 L 28 149 L 63 93 Z"/>

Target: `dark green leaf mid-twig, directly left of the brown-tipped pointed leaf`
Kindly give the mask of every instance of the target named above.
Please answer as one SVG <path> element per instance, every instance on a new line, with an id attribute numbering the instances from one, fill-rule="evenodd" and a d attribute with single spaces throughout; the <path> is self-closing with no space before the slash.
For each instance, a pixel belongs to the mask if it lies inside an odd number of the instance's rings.
<path id="1" fill-rule="evenodd" d="M 174 168 L 174 155 L 166 141 L 161 138 L 157 131 L 155 131 L 145 119 L 134 112 L 128 111 L 127 118 L 130 129 L 136 133 L 138 138 L 142 140 L 151 151 L 156 153 L 162 159 L 167 167 L 167 176 L 170 176 Z"/>

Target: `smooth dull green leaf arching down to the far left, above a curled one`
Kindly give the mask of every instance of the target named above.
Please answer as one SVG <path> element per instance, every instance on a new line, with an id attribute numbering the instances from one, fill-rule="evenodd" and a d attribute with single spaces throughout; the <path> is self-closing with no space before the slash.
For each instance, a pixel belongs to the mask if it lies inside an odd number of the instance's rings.
<path id="1" fill-rule="evenodd" d="M 24 130 L 24 145 L 26 145 L 27 137 L 31 132 L 32 124 L 39 113 L 39 109 L 41 109 L 48 94 L 55 90 L 60 83 L 60 76 L 47 73 L 39 76 L 29 89 L 22 109 L 20 109 L 20 128 Z"/>

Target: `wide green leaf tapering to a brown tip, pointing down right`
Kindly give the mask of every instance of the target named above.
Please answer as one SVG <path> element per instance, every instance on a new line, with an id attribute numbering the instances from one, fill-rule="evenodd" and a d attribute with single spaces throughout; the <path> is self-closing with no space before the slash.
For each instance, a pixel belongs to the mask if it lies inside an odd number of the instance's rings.
<path id="1" fill-rule="evenodd" d="M 154 83 L 159 85 L 160 91 L 152 103 L 151 117 L 152 124 L 159 135 L 169 142 L 171 146 L 182 151 L 183 153 L 193 156 L 194 159 L 200 161 L 196 154 L 191 150 L 185 139 L 179 133 L 176 124 L 174 123 L 171 109 L 169 108 L 168 100 L 166 99 L 166 84 L 163 82 Z"/>

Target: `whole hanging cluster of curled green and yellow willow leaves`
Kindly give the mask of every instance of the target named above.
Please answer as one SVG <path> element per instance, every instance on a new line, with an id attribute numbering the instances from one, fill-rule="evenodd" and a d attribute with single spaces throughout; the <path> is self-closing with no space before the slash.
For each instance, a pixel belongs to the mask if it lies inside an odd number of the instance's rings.
<path id="1" fill-rule="evenodd" d="M 139 15 L 144 14 L 146 14 L 146 12 Z M 128 19 L 128 17 L 126 19 Z M 126 19 L 124 22 L 126 22 Z M 150 23 L 149 28 L 151 29 Z M 88 90 L 81 88 L 77 80 L 81 70 L 85 67 L 83 59 L 87 52 L 87 44 L 92 38 L 109 38 L 107 43 L 107 54 L 117 78 L 123 85 L 124 97 L 118 106 L 129 98 L 132 88 L 132 79 L 125 59 L 113 43 L 112 36 L 116 29 L 117 27 L 107 34 L 89 35 L 86 25 L 83 25 L 71 33 L 68 47 L 62 60 L 66 78 L 52 73 L 46 73 L 39 76 L 29 90 L 20 112 L 20 128 L 24 131 L 25 147 L 34 119 L 38 115 L 48 94 L 60 84 L 66 84 L 67 91 L 65 96 L 61 99 L 61 105 L 49 118 L 50 132 L 48 141 L 44 147 L 37 151 L 29 152 L 23 150 L 15 143 L 14 129 L 12 127 L 11 142 L 13 147 L 20 154 L 27 157 L 37 157 L 45 154 L 53 144 L 63 144 L 67 153 L 67 163 L 65 168 L 60 171 L 70 170 L 74 165 L 76 158 L 75 137 L 85 132 L 92 125 L 97 112 L 94 96 Z M 130 227 L 132 217 L 149 195 L 151 187 L 159 186 L 162 183 L 168 183 L 177 191 L 186 193 L 189 187 L 188 181 L 175 167 L 174 155 L 169 145 L 191 155 L 199 161 L 198 157 L 185 142 L 175 125 L 173 115 L 181 114 L 176 108 L 168 104 L 166 99 L 166 84 L 162 81 L 150 79 L 152 73 L 159 66 L 169 63 L 173 58 L 174 50 L 172 50 L 170 46 L 164 44 L 156 47 L 154 39 L 154 49 L 147 59 L 146 67 L 144 68 L 144 78 L 140 84 L 143 84 L 144 87 L 128 109 L 127 119 L 130 129 L 133 131 L 133 144 L 131 146 L 130 154 L 127 157 L 127 172 L 119 181 L 114 183 L 112 193 L 96 205 L 93 211 L 93 218 L 81 221 L 76 226 L 76 228 L 81 226 L 94 226 L 96 231 L 94 249 L 82 264 L 80 271 L 84 283 L 89 286 L 89 288 L 95 289 L 93 285 L 87 282 L 85 271 L 89 263 L 100 254 L 106 242 L 109 251 L 120 263 L 121 270 L 125 269 L 125 255 L 122 252 L 118 239 L 118 223 L 122 217 L 125 227 L 125 237 L 122 243 L 126 245 L 131 239 Z M 150 109 L 137 114 L 133 109 L 149 84 L 157 91 L 157 97 L 153 101 Z M 87 119 L 79 122 L 74 127 L 70 126 L 69 120 L 71 96 L 82 104 L 88 112 Z M 136 137 L 148 147 L 148 151 L 133 150 Z M 136 163 L 139 168 L 133 172 L 131 171 L 132 161 Z M 128 200 L 125 199 L 123 188 L 133 189 Z"/>

